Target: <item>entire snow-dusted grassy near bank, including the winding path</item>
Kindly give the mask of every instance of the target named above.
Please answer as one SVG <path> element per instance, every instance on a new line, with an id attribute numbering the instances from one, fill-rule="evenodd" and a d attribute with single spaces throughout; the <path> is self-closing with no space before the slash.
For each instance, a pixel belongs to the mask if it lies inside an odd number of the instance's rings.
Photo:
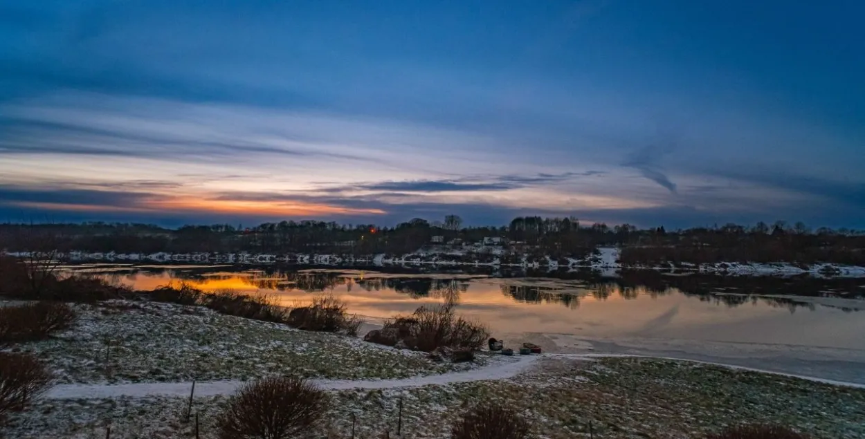
<path id="1" fill-rule="evenodd" d="M 80 320 L 37 354 L 59 377 L 3 429 L 16 438 L 192 437 L 191 380 L 201 437 L 245 379 L 291 373 L 330 393 L 317 436 L 446 437 L 465 404 L 520 410 L 542 437 L 701 437 L 742 422 L 784 423 L 817 437 L 865 435 L 865 389 L 670 359 L 575 353 L 435 363 L 421 353 L 345 335 L 218 315 L 166 303 L 74 305 Z M 108 346 L 111 345 L 109 353 Z"/>

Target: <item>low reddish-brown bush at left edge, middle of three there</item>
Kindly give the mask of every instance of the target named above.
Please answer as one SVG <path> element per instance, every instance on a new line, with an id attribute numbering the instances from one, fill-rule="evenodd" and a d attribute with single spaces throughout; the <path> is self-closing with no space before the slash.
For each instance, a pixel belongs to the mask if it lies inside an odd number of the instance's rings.
<path id="1" fill-rule="evenodd" d="M 72 327 L 78 314 L 61 302 L 35 302 L 0 308 L 0 346 L 43 340 Z"/>

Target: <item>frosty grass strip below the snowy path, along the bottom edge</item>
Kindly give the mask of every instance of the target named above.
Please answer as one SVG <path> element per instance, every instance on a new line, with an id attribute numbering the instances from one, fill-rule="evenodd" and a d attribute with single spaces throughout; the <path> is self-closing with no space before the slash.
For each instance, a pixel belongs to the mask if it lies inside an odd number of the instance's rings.
<path id="1" fill-rule="evenodd" d="M 865 390 L 824 385 L 720 366 L 654 359 L 541 357 L 505 379 L 420 387 L 330 391 L 322 435 L 372 438 L 397 429 L 400 398 L 404 437 L 447 437 L 465 404 L 480 399 L 516 407 L 543 437 L 686 438 L 726 424 L 785 423 L 823 438 L 865 436 Z M 215 438 L 224 396 L 195 398 L 201 437 Z M 7 433 L 20 438 L 182 438 L 186 398 L 43 399 L 15 418 Z"/>

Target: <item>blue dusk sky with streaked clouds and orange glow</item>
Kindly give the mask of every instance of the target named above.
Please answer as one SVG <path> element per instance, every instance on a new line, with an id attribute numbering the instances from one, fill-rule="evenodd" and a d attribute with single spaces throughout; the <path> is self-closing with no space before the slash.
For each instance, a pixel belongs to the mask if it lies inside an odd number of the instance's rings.
<path id="1" fill-rule="evenodd" d="M 0 220 L 863 227 L 862 16 L 0 0 Z"/>

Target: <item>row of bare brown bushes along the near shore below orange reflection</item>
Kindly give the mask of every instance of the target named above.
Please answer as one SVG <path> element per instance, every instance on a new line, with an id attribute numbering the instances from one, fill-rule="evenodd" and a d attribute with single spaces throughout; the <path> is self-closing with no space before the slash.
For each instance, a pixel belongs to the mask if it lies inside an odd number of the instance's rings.
<path id="1" fill-rule="evenodd" d="M 362 321 L 346 312 L 345 302 L 334 296 L 315 296 L 309 305 L 288 309 L 272 296 L 247 295 L 233 289 L 204 292 L 188 283 L 163 285 L 154 289 L 151 300 L 188 306 L 202 306 L 224 315 L 284 323 L 306 331 L 356 335 Z"/>

